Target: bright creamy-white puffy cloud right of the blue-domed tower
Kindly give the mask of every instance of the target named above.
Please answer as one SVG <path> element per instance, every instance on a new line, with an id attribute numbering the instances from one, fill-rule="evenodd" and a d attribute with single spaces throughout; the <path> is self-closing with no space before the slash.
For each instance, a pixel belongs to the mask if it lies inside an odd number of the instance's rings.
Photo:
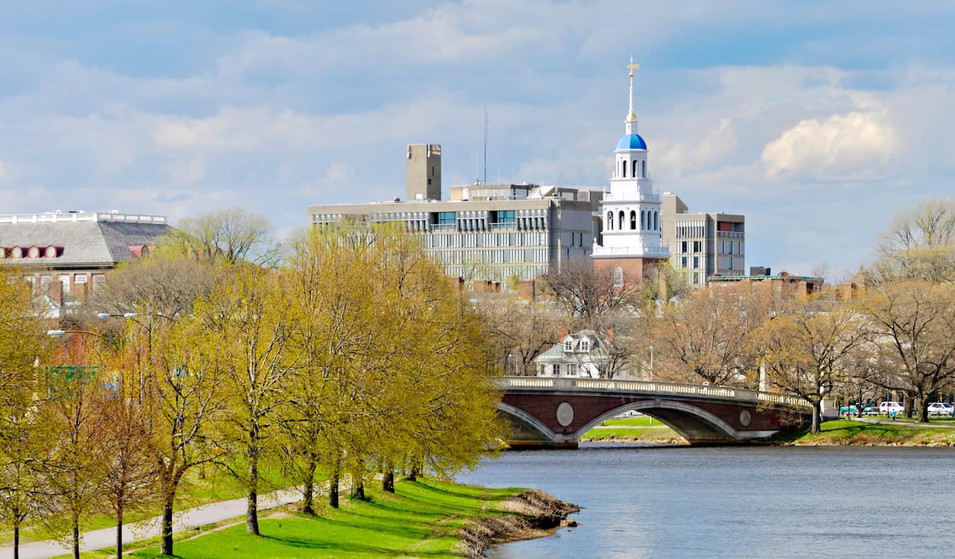
<path id="1" fill-rule="evenodd" d="M 766 178 L 847 180 L 878 178 L 899 150 L 884 111 L 800 120 L 760 156 Z"/>

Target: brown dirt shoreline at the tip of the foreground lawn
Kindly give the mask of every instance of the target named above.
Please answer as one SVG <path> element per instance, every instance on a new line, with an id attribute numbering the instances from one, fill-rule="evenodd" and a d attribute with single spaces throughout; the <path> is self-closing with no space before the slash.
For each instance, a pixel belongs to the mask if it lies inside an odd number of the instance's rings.
<path id="1" fill-rule="evenodd" d="M 576 527 L 567 516 L 581 507 L 565 503 L 540 489 L 523 491 L 500 505 L 508 514 L 488 516 L 460 529 L 459 550 L 466 556 L 483 557 L 491 546 L 549 536 L 562 527 Z"/>

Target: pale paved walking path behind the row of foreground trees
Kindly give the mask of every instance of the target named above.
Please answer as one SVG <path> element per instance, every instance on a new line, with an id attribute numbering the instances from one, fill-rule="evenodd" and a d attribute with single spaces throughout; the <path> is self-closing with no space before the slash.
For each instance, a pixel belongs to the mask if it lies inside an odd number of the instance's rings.
<path id="1" fill-rule="evenodd" d="M 302 499 L 302 494 L 297 489 L 282 489 L 259 496 L 259 510 L 274 508 L 275 506 L 288 505 Z M 202 527 L 237 516 L 245 514 L 245 498 L 233 499 L 231 501 L 221 501 L 219 503 L 210 503 L 208 505 L 189 508 L 173 516 L 173 531 L 181 532 L 187 529 Z M 148 538 L 159 536 L 159 517 L 143 520 L 132 525 L 123 527 L 123 544 L 138 542 Z M 108 527 L 89 532 L 83 532 L 82 539 L 79 542 L 81 551 L 92 551 L 95 549 L 112 548 L 116 546 L 117 528 Z M 31 542 L 20 545 L 21 559 L 45 559 L 56 555 L 69 554 L 72 552 L 69 545 L 54 540 L 45 540 L 40 542 Z M 13 557 L 13 548 L 11 546 L 0 547 L 0 559 Z"/>

